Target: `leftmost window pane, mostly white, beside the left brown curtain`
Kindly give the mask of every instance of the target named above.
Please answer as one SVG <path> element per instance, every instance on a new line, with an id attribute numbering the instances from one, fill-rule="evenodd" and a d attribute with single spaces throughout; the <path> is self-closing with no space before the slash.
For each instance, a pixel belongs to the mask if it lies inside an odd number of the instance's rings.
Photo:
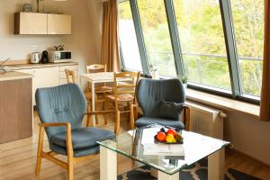
<path id="1" fill-rule="evenodd" d="M 119 34 L 124 67 L 130 70 L 142 71 L 134 23 L 130 11 L 130 2 L 126 1 L 118 4 L 118 11 Z"/>

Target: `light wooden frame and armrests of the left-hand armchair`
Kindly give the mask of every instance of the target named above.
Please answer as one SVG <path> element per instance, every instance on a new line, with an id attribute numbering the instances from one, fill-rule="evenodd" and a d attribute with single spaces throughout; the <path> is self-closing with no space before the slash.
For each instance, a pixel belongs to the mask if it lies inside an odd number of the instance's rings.
<path id="1" fill-rule="evenodd" d="M 91 115 L 95 114 L 104 114 L 104 113 L 113 113 L 114 111 L 106 111 L 106 112 L 85 112 L 87 115 L 86 127 L 91 127 L 92 122 L 90 122 Z M 72 147 L 72 133 L 71 133 L 71 124 L 69 122 L 53 122 L 53 123 L 39 123 L 40 126 L 40 134 L 39 134 L 39 144 L 38 144 L 38 154 L 37 154 L 37 164 L 36 164 L 36 175 L 40 174 L 41 160 L 42 158 L 46 158 L 49 161 L 55 163 L 58 166 L 67 170 L 67 179 L 73 180 L 74 174 L 74 165 L 85 161 L 93 157 L 96 154 L 88 155 L 85 157 L 74 157 L 74 150 Z M 55 157 L 58 153 L 54 151 L 44 152 L 43 151 L 43 142 L 44 142 L 44 130 L 48 127 L 59 127 L 66 126 L 67 129 L 67 162 L 62 161 Z"/>

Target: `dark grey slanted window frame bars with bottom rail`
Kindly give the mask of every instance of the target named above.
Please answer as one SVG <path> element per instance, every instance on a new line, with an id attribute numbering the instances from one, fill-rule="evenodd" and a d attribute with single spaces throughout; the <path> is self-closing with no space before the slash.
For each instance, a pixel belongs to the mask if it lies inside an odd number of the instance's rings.
<path id="1" fill-rule="evenodd" d="M 133 18 L 133 23 L 136 31 L 137 42 L 139 46 L 139 56 L 141 60 L 141 65 L 143 68 L 143 74 L 148 76 L 148 57 L 147 51 L 145 47 L 145 41 L 143 36 L 143 31 L 140 23 L 139 17 L 139 9 L 137 0 L 118 0 L 118 3 L 122 3 L 125 1 L 130 2 L 130 10 Z M 187 82 L 187 86 L 194 90 L 199 90 L 205 93 L 216 94 L 224 97 L 228 97 L 231 99 L 235 99 L 238 101 L 243 101 L 247 103 L 255 103 L 259 104 L 259 96 L 251 95 L 251 94 L 243 94 L 240 85 L 240 75 L 239 75 L 239 59 L 238 59 L 238 51 L 235 39 L 235 29 L 233 24 L 233 18 L 231 13 L 231 5 L 229 0 L 219 0 L 220 3 L 220 15 L 222 21 L 222 28 L 224 34 L 224 40 L 227 51 L 227 59 L 229 66 L 229 78 L 230 78 L 230 86 L 231 93 L 225 92 L 223 89 L 207 86 L 207 85 L 199 85 L 191 82 Z M 184 61 L 183 54 L 181 50 L 180 38 L 178 34 L 178 27 L 176 24 L 175 18 L 175 7 L 173 0 L 164 0 L 164 5 L 166 9 L 166 20 L 170 34 L 171 45 L 173 49 L 173 55 L 175 59 L 175 68 L 177 76 L 183 76 L 184 72 Z M 121 52 L 121 44 L 120 44 L 120 52 Z M 121 56 L 121 65 L 122 70 L 126 71 L 124 67 L 124 59 Z"/>

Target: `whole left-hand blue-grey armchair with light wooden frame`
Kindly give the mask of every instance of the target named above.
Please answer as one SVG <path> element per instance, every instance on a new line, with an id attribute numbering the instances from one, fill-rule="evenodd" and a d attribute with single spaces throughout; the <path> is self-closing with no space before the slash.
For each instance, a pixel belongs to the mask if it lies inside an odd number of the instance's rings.
<path id="1" fill-rule="evenodd" d="M 83 127 L 85 114 L 94 112 L 85 113 L 85 95 L 76 84 L 40 88 L 35 98 L 41 121 L 36 174 L 40 174 L 41 159 L 46 158 L 67 169 L 67 179 L 71 180 L 76 163 L 99 153 L 95 141 L 113 139 L 115 135 L 110 130 Z M 43 151 L 44 132 L 49 140 L 49 152 Z M 58 154 L 67 156 L 67 162 L 55 157 Z"/>

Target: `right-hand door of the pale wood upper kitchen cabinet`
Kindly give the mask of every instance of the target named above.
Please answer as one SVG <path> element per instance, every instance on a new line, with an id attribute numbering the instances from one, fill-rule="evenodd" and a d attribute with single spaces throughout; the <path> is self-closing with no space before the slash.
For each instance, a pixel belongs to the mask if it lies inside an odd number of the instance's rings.
<path id="1" fill-rule="evenodd" d="M 71 15 L 48 14 L 48 34 L 71 34 Z"/>

